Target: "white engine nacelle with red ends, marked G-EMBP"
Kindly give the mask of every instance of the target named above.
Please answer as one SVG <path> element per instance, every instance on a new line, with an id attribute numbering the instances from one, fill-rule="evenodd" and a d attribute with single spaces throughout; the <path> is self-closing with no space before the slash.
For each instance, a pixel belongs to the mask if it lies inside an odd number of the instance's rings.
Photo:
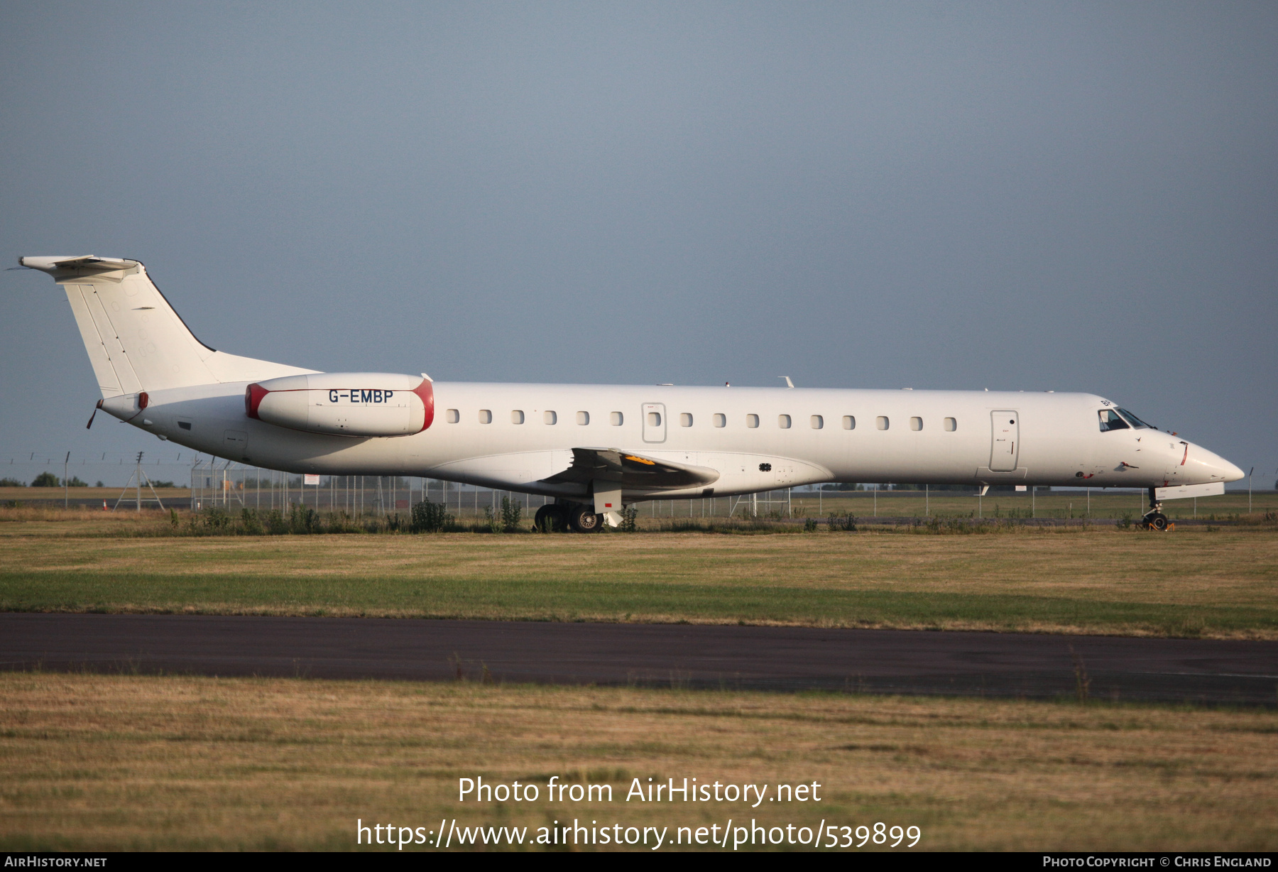
<path id="1" fill-rule="evenodd" d="M 387 372 L 317 372 L 256 382 L 244 414 L 334 436 L 412 436 L 435 421 L 431 380 Z"/>

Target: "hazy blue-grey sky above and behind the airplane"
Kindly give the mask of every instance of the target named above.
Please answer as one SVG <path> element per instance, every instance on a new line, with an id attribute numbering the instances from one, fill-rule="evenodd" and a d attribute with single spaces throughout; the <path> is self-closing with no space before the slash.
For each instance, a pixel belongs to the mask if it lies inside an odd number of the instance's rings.
<path id="1" fill-rule="evenodd" d="M 0 252 L 438 380 L 1095 391 L 1278 467 L 1278 5 L 0 4 Z M 0 272 L 0 455 L 84 421 Z M 0 476 L 4 471 L 0 471 Z"/>

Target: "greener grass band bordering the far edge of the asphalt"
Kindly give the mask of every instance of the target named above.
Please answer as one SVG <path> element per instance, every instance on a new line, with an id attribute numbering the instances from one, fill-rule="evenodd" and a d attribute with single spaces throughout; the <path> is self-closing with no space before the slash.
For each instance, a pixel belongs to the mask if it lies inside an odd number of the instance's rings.
<path id="1" fill-rule="evenodd" d="M 1278 638 L 1278 609 L 690 582 L 0 573 L 0 610 L 780 624 Z"/>

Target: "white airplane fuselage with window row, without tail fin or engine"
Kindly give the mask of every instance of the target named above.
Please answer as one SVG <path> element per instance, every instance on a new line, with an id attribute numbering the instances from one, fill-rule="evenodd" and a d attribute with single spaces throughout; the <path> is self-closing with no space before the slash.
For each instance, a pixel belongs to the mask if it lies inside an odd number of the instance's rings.
<path id="1" fill-rule="evenodd" d="M 547 483 L 573 448 L 714 469 L 707 486 L 626 501 L 818 482 L 1166 487 L 1223 482 L 1232 464 L 1151 427 L 1102 431 L 1093 394 L 433 382 L 412 436 L 349 437 L 254 421 L 247 384 L 151 391 L 105 410 L 197 451 L 288 472 L 401 474 L 585 496 Z"/>

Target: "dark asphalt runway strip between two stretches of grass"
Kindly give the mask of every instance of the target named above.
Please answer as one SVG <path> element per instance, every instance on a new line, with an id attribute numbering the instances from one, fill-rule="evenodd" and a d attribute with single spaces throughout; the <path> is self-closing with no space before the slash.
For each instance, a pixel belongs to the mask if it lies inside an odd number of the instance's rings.
<path id="1" fill-rule="evenodd" d="M 0 669 L 1278 705 L 1278 642 L 805 627 L 10 612 Z"/>

